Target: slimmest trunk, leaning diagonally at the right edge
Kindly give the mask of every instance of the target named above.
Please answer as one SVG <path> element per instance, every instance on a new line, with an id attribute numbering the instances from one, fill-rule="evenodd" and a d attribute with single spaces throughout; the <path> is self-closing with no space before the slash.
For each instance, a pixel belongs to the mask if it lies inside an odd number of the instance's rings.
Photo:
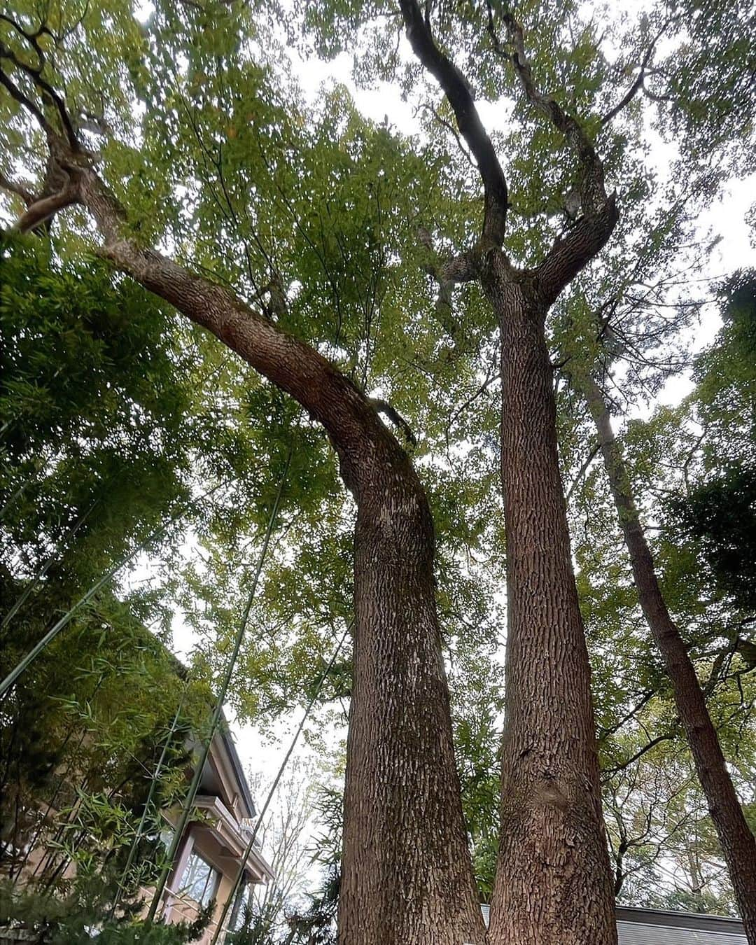
<path id="1" fill-rule="evenodd" d="M 722 845 L 748 942 L 756 945 L 756 838 L 747 825 L 732 786 L 696 668 L 664 602 L 622 451 L 611 430 L 603 391 L 593 377 L 571 375 L 571 380 L 585 396 L 596 424 L 641 608 L 672 682 L 679 719 Z"/>

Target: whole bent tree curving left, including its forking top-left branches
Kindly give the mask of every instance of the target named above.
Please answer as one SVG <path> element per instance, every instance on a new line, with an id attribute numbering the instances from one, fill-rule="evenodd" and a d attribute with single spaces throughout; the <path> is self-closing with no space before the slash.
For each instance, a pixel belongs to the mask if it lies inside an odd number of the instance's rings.
<path id="1" fill-rule="evenodd" d="M 230 42 L 227 59 L 235 65 L 243 59 L 233 43 L 237 24 L 228 12 L 220 5 L 208 15 L 223 19 Z M 249 27 L 249 11 L 236 12 Z M 4 17 L 0 81 L 5 104 L 10 103 L 14 117 L 33 119 L 40 132 L 37 145 L 46 150 L 38 158 L 47 169 L 45 179 L 33 193 L 11 183 L 27 204 L 17 228 L 34 231 L 64 208 L 80 206 L 99 231 L 101 255 L 219 338 L 325 427 L 357 506 L 339 936 L 350 945 L 480 942 L 483 921 L 440 653 L 434 529 L 420 479 L 381 421 L 379 410 L 386 405 L 373 403 L 315 348 L 276 323 L 285 299 L 274 282 L 267 288 L 266 308 L 255 307 L 225 285 L 149 248 L 144 232 L 129 226 L 125 204 L 115 198 L 84 145 L 83 101 L 76 94 L 66 101 L 61 91 L 66 74 L 77 89 L 93 79 L 91 71 L 80 71 L 77 54 L 83 47 L 75 45 L 73 61 L 67 60 L 66 43 L 79 35 L 86 37 L 84 45 L 99 41 L 102 17 L 112 15 L 130 28 L 128 6 L 115 12 L 89 7 L 75 23 L 40 22 L 33 8 L 17 19 Z M 193 28 L 185 30 L 185 40 L 209 51 L 213 61 L 217 26 L 203 35 L 205 15 L 204 9 L 189 14 Z M 170 10 L 166 16 L 176 26 Z M 103 80 L 103 87 L 112 90 L 112 81 Z M 266 95 L 260 99 L 265 103 Z M 100 126 L 106 122 L 101 112 Z M 140 197 L 138 187 L 135 196 Z"/>

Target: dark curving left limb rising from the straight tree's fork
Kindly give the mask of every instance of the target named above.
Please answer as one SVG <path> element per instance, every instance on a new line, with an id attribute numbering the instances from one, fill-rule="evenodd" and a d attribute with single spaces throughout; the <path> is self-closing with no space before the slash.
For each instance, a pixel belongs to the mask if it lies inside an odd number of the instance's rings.
<path id="1" fill-rule="evenodd" d="M 399 6 L 413 52 L 449 99 L 457 127 L 477 162 L 485 201 L 483 238 L 499 247 L 507 228 L 507 180 L 475 108 L 470 85 L 454 62 L 438 48 L 417 0 L 400 0 Z"/>

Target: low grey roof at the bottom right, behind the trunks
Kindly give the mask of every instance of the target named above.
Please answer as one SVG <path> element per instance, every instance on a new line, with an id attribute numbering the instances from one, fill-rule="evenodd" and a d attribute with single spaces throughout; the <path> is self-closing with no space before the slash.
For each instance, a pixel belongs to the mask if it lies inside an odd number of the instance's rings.
<path id="1" fill-rule="evenodd" d="M 482 905 L 489 924 L 489 906 Z M 619 945 L 747 945 L 743 923 L 694 912 L 617 906 Z"/>

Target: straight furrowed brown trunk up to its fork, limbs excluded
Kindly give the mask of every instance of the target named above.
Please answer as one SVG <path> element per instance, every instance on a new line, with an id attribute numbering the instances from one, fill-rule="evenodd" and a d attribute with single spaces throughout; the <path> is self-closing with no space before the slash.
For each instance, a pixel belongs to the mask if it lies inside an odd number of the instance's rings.
<path id="1" fill-rule="evenodd" d="M 545 304 L 501 256 L 486 290 L 502 333 L 508 606 L 490 943 L 610 945 L 617 933 L 591 670 L 558 468 Z"/>

